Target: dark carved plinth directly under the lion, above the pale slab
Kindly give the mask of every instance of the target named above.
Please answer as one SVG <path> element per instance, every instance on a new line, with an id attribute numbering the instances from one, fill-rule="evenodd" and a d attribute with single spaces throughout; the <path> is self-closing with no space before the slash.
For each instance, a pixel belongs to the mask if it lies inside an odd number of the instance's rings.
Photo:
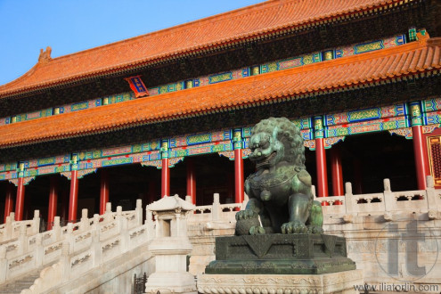
<path id="1" fill-rule="evenodd" d="M 327 234 L 262 234 L 216 238 L 205 274 L 330 274 L 355 270 L 344 238 Z"/>

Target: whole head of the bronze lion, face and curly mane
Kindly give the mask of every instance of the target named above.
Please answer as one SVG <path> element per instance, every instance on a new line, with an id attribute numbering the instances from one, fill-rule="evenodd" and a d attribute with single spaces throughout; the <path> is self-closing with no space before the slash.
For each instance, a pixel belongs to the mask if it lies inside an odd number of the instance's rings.
<path id="1" fill-rule="evenodd" d="M 268 118 L 251 130 L 249 159 L 256 167 L 271 167 L 286 161 L 305 167 L 305 146 L 300 130 L 288 118 Z"/>

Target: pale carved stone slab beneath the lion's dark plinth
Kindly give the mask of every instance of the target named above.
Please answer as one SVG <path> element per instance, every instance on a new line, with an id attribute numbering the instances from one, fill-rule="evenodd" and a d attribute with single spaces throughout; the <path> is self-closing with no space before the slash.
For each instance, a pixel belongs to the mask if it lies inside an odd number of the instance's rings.
<path id="1" fill-rule="evenodd" d="M 198 291 L 204 294 L 231 293 L 358 293 L 363 271 L 331 274 L 199 274 Z"/>

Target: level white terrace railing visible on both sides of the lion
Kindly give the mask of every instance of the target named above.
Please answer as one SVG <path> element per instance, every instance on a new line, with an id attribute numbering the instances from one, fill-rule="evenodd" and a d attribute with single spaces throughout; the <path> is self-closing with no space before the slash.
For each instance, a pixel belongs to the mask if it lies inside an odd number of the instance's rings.
<path id="1" fill-rule="evenodd" d="M 344 196 L 316 197 L 313 186 L 314 200 L 326 202 L 323 205 L 323 216 L 340 216 L 350 221 L 350 216 L 383 215 L 388 220 L 389 213 L 409 212 L 426 213 L 429 219 L 441 215 L 441 190 L 435 189 L 432 176 L 428 176 L 426 190 L 392 192 L 390 181 L 385 179 L 384 192 L 372 194 L 352 193 L 352 184 L 346 184 Z M 324 203 L 323 203 L 324 204 Z M 205 229 L 213 229 L 216 224 L 235 223 L 236 208 L 244 208 L 244 203 L 220 204 L 219 195 L 214 195 L 212 205 L 196 207 L 195 214 L 189 217 L 189 225 L 204 225 Z M 439 213 L 438 213 L 439 212 Z"/>

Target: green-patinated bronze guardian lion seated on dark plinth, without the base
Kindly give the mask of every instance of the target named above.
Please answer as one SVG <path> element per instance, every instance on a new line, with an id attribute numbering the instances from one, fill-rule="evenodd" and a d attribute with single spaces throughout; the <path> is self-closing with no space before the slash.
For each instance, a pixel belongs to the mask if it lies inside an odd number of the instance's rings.
<path id="1" fill-rule="evenodd" d="M 245 181 L 249 202 L 236 214 L 236 234 L 323 233 L 298 127 L 287 118 L 264 119 L 252 128 L 249 149 L 257 171 Z"/>

